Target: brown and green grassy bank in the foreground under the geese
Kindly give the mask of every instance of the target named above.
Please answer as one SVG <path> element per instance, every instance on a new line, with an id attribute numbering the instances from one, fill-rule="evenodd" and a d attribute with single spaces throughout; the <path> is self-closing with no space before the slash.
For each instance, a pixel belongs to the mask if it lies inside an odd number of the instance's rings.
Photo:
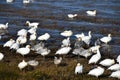
<path id="1" fill-rule="evenodd" d="M 43 61 L 43 57 L 36 55 L 33 51 L 23 58 L 21 55 L 11 52 L 8 48 L 0 46 L 0 52 L 4 53 L 5 57 L 0 62 L 0 80 L 98 80 L 98 78 L 87 75 L 93 65 L 88 65 L 88 60 L 80 58 L 77 61 L 77 57 L 70 57 L 69 55 L 64 61 L 56 66 L 53 63 L 53 54 L 46 56 L 46 60 Z M 24 70 L 20 71 L 17 67 L 18 63 L 25 59 L 35 59 L 39 61 L 39 65 L 36 67 L 27 66 Z M 84 66 L 82 74 L 75 75 L 74 69 L 76 64 L 80 62 Z M 115 78 L 109 78 L 110 71 L 99 77 L 99 80 L 115 80 Z"/>

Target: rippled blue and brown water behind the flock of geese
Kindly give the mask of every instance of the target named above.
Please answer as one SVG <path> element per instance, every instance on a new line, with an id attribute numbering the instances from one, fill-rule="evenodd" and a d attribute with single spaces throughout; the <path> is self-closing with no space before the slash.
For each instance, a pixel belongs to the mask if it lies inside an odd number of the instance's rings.
<path id="1" fill-rule="evenodd" d="M 88 16 L 87 10 L 97 10 L 96 16 Z M 67 14 L 78 14 L 69 19 Z M 22 0 L 6 3 L 0 0 L 0 23 L 9 23 L 7 31 L 0 43 L 3 44 L 10 37 L 16 38 L 17 31 L 25 28 L 25 22 L 39 22 L 37 35 L 50 33 L 49 47 L 59 48 L 64 39 L 60 32 L 72 30 L 74 34 L 92 31 L 93 38 L 101 38 L 112 34 L 111 53 L 120 54 L 120 0 L 34 0 L 23 4 Z"/>

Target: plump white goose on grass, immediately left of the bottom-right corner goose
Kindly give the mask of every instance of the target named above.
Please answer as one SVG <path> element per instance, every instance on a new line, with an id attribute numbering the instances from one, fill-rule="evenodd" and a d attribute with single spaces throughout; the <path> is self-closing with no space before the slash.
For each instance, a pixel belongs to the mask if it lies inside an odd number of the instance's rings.
<path id="1" fill-rule="evenodd" d="M 104 73 L 104 71 L 105 71 L 104 68 L 98 66 L 97 68 L 90 70 L 88 75 L 99 77 L 100 75 Z"/>

